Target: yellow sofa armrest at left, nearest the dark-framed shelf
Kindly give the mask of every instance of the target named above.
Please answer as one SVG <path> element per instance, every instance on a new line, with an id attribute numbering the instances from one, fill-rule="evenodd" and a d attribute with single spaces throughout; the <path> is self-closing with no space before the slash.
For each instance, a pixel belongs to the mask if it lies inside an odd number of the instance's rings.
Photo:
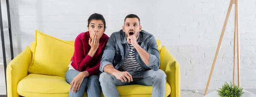
<path id="1" fill-rule="evenodd" d="M 6 82 L 8 97 L 20 97 L 17 93 L 17 84 L 28 75 L 28 68 L 32 61 L 30 48 L 27 46 L 17 55 L 6 68 Z"/>

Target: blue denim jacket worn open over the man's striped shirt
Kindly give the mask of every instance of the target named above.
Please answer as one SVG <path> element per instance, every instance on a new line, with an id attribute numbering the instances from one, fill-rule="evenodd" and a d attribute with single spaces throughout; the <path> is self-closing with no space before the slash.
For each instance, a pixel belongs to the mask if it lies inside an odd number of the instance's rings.
<path id="1" fill-rule="evenodd" d="M 157 49 L 157 42 L 154 36 L 145 30 L 141 30 L 137 42 L 140 47 L 150 54 L 149 64 L 147 66 L 137 50 L 135 50 L 135 57 L 138 64 L 146 70 L 158 70 L 160 67 L 160 53 Z M 112 33 L 102 55 L 99 70 L 104 72 L 103 69 L 108 64 L 113 65 L 115 69 L 119 69 L 127 58 L 128 51 L 129 45 L 126 42 L 125 33 L 122 30 Z"/>

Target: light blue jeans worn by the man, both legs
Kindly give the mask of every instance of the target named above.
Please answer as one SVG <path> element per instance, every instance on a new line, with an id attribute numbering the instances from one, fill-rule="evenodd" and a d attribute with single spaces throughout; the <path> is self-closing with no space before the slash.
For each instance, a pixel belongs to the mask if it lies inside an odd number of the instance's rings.
<path id="1" fill-rule="evenodd" d="M 122 82 L 121 80 L 116 79 L 115 76 L 110 75 L 106 72 L 103 72 L 99 75 L 99 82 L 102 87 L 102 92 L 104 97 L 120 97 L 119 92 L 116 89 L 116 86 L 124 86 L 124 85 L 145 85 L 145 86 L 153 86 L 152 89 L 152 97 L 165 97 L 166 92 L 166 74 L 163 70 L 158 69 L 147 70 L 141 72 L 128 72 L 131 76 L 143 76 L 143 79 L 140 81 L 133 81 L 128 83 Z"/>

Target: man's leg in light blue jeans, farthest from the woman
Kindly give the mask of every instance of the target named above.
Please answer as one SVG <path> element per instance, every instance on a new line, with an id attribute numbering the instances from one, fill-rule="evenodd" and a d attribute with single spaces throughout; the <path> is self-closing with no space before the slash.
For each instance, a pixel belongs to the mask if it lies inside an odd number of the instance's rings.
<path id="1" fill-rule="evenodd" d="M 143 76 L 143 79 L 137 81 L 139 85 L 153 86 L 152 97 L 164 97 L 166 92 L 166 74 L 163 70 L 148 70 L 145 72 L 137 72 L 135 76 Z"/>

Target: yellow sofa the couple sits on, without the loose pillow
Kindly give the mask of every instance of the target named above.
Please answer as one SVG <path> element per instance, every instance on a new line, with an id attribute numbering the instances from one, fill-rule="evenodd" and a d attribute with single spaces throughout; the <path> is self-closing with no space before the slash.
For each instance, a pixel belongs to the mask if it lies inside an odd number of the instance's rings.
<path id="1" fill-rule="evenodd" d="M 65 42 L 74 44 L 74 41 Z M 161 46 L 159 40 L 157 44 L 160 51 L 160 69 L 167 75 L 166 97 L 180 97 L 180 65 L 166 47 Z M 27 46 L 8 64 L 6 71 L 8 97 L 68 97 L 70 84 L 63 76 L 29 72 L 35 54 L 34 49 L 35 42 L 32 42 L 31 47 Z M 67 66 L 63 68 L 66 69 Z M 121 97 L 151 97 L 152 92 L 152 86 L 142 85 L 117 86 L 117 89 Z"/>

